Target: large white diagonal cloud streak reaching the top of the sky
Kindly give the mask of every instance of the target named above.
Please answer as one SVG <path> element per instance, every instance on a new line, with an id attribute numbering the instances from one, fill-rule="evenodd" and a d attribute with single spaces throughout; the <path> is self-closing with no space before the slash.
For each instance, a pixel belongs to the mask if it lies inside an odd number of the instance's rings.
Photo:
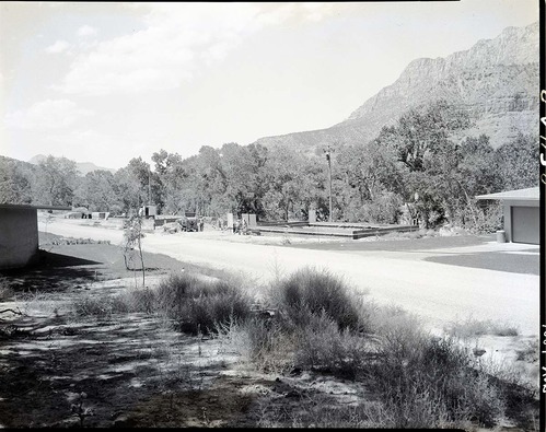
<path id="1" fill-rule="evenodd" d="M 147 28 L 80 55 L 56 89 L 95 95 L 175 89 L 264 26 L 290 19 L 316 21 L 329 11 L 320 3 L 137 3 L 133 8 L 147 12 Z"/>

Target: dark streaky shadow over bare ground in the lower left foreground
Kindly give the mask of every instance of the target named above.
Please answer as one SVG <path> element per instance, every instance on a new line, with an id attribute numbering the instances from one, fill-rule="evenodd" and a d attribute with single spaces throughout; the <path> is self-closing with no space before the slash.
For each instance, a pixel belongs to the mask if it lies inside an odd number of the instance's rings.
<path id="1" fill-rule="evenodd" d="M 220 360 L 199 366 L 197 354 L 186 357 L 197 352 L 197 338 L 166 330 L 142 314 L 16 325 L 33 330 L 2 341 L 0 422 L 7 428 L 79 425 L 71 404 L 82 392 L 83 408 L 93 410 L 84 427 L 121 425 L 118 418 L 139 401 L 205 390 L 221 369 Z"/>

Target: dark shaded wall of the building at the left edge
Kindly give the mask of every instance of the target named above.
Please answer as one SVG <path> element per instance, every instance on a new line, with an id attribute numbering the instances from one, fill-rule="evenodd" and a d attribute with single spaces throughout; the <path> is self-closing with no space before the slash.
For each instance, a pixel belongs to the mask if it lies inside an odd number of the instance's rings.
<path id="1" fill-rule="evenodd" d="M 24 267 L 37 252 L 36 209 L 0 206 L 0 269 Z"/>

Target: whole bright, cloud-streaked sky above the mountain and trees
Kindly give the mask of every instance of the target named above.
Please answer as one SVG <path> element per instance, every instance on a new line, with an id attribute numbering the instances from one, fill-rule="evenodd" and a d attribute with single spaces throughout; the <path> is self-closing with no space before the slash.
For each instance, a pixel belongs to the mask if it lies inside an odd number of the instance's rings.
<path id="1" fill-rule="evenodd" d="M 338 124 L 536 0 L 0 2 L 0 155 L 119 168 Z"/>

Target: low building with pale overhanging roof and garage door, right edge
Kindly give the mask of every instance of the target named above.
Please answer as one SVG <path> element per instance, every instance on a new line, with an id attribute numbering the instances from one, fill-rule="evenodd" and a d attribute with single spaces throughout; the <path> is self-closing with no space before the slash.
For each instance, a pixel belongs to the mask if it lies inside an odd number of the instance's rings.
<path id="1" fill-rule="evenodd" d="M 538 187 L 478 195 L 478 200 L 502 202 L 508 242 L 541 244 L 541 191 Z"/>

